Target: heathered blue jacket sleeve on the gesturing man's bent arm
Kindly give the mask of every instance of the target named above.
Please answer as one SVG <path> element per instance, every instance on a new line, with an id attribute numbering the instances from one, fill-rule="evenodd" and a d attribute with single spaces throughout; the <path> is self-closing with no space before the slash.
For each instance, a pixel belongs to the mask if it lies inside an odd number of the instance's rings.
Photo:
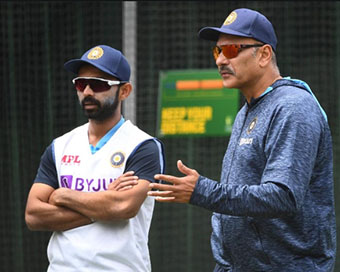
<path id="1" fill-rule="evenodd" d="M 266 134 L 259 182 L 240 183 L 233 175 L 236 180 L 219 183 L 201 176 L 191 203 L 236 216 L 282 217 L 301 209 L 325 133 L 325 120 L 313 104 L 289 101 L 277 109 Z"/>

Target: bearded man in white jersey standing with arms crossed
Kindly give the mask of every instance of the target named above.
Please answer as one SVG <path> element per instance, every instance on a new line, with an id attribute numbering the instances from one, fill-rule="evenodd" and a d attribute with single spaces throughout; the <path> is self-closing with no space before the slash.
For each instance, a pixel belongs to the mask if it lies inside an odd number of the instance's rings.
<path id="1" fill-rule="evenodd" d="M 89 122 L 46 148 L 28 195 L 27 226 L 53 231 L 48 272 L 151 271 L 154 200 L 147 192 L 164 172 L 164 155 L 158 139 L 121 115 L 132 91 L 130 66 L 106 45 L 64 66 L 77 74 Z"/>

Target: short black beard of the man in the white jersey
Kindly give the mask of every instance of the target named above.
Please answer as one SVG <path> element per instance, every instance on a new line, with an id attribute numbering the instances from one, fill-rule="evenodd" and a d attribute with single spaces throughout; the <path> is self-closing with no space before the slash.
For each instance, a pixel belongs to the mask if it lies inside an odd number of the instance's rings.
<path id="1" fill-rule="evenodd" d="M 96 121 L 104 121 L 109 118 L 111 118 L 118 107 L 118 95 L 119 95 L 119 89 L 116 93 L 116 97 L 109 97 L 106 98 L 101 104 L 97 99 L 93 98 L 92 96 L 87 96 L 81 101 L 82 109 L 85 113 L 85 116 L 88 119 L 96 120 Z M 87 110 L 85 109 L 85 103 L 91 103 L 94 105 L 97 105 L 98 107 L 96 109 Z"/>

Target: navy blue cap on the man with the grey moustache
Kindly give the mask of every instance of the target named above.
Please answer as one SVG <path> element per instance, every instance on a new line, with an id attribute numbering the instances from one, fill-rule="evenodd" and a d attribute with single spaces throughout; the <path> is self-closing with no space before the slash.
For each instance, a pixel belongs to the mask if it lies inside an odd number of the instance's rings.
<path id="1" fill-rule="evenodd" d="M 198 36 L 205 40 L 217 41 L 221 33 L 241 37 L 249 37 L 276 50 L 277 38 L 271 22 L 261 13 L 241 8 L 232 11 L 220 28 L 204 27 Z"/>

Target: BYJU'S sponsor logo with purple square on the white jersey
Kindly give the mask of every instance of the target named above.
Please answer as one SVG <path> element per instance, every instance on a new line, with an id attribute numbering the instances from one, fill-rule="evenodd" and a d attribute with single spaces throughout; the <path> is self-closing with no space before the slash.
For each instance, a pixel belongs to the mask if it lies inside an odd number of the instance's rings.
<path id="1" fill-rule="evenodd" d="M 81 178 L 72 175 L 60 176 L 60 186 L 85 192 L 105 191 L 116 178 Z"/>

